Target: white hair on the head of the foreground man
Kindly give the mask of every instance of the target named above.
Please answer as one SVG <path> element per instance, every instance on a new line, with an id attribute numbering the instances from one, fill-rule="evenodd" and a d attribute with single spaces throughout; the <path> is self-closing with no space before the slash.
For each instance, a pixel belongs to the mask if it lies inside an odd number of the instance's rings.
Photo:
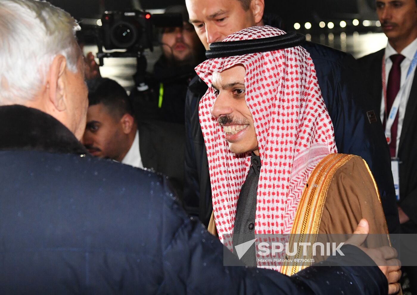
<path id="1" fill-rule="evenodd" d="M 0 0 L 0 105 L 25 104 L 42 86 L 53 58 L 77 72 L 77 22 L 38 0 Z"/>

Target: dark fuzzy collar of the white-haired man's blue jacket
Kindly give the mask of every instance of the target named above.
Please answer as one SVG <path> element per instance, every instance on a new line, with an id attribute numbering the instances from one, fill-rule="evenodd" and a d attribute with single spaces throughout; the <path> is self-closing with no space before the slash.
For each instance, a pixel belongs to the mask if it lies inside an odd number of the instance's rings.
<path id="1" fill-rule="evenodd" d="M 88 154 L 74 134 L 54 117 L 29 107 L 0 107 L 0 151 Z"/>

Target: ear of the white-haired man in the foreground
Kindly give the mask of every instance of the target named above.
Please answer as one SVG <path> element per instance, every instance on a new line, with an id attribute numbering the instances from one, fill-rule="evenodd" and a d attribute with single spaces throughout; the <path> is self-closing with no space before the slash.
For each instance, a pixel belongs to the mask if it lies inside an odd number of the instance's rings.
<path id="1" fill-rule="evenodd" d="M 67 60 L 63 55 L 54 57 L 47 80 L 48 99 L 54 105 L 55 109 L 62 112 L 66 109 L 65 105 L 65 70 Z"/>

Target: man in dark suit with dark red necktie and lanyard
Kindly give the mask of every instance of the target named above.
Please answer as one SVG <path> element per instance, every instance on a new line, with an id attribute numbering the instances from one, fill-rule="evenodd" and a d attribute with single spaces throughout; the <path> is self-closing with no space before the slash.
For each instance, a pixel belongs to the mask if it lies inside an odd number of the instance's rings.
<path id="1" fill-rule="evenodd" d="M 377 0 L 377 14 L 387 47 L 359 64 L 389 140 L 401 231 L 417 233 L 417 1 Z M 407 273 L 417 294 L 415 268 Z"/>

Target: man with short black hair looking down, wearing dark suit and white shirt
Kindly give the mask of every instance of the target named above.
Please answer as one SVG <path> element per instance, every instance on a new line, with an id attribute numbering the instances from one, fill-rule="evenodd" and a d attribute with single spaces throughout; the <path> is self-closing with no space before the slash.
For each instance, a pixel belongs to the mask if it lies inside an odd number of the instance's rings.
<path id="1" fill-rule="evenodd" d="M 88 102 L 82 142 L 90 154 L 160 172 L 182 196 L 184 127 L 136 120 L 125 89 L 112 79 L 91 83 Z"/>

